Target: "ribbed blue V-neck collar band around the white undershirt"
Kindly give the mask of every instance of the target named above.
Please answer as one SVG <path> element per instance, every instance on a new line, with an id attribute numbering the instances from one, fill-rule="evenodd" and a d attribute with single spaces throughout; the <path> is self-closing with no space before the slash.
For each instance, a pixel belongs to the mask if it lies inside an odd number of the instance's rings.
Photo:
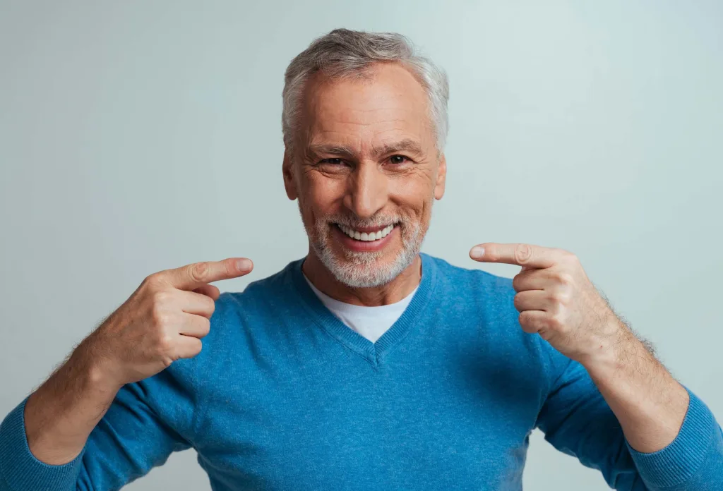
<path id="1" fill-rule="evenodd" d="M 400 318 L 375 343 L 351 329 L 326 308 L 320 298 L 309 287 L 307 280 L 304 279 L 304 273 L 301 271 L 304 258 L 294 261 L 289 272 L 298 294 L 299 303 L 304 307 L 303 310 L 307 315 L 312 318 L 312 321 L 324 329 L 337 342 L 361 355 L 372 366 L 376 367 L 419 323 L 419 318 L 432 297 L 437 282 L 437 267 L 427 254 L 420 253 L 419 256 L 422 258 L 422 278 L 419 280 L 419 287 Z"/>

